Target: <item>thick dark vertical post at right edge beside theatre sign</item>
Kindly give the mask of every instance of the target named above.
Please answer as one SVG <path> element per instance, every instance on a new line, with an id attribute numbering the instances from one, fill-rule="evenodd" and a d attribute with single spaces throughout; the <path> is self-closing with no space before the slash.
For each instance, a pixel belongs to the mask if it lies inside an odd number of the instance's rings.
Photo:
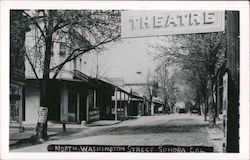
<path id="1" fill-rule="evenodd" d="M 226 12 L 228 109 L 226 152 L 239 152 L 239 12 Z"/>

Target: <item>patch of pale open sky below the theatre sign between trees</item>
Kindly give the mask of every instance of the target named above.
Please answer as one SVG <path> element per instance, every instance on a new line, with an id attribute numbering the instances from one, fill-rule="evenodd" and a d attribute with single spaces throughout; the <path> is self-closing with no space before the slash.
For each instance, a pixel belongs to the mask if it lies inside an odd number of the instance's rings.
<path id="1" fill-rule="evenodd" d="M 130 38 L 108 46 L 108 50 L 98 57 L 100 74 L 123 77 L 126 83 L 145 81 L 148 71 L 153 72 L 156 63 L 148 53 L 148 44 L 156 41 L 156 37 Z"/>

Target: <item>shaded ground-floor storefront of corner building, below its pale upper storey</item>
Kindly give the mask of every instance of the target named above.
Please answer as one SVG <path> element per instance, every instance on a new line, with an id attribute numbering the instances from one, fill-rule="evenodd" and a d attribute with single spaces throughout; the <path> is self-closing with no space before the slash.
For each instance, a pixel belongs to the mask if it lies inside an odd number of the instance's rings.
<path id="1" fill-rule="evenodd" d="M 81 74 L 81 76 L 79 76 Z M 40 86 L 37 79 L 27 79 L 25 89 L 25 121 L 36 123 L 40 107 Z M 103 81 L 72 72 L 71 79 L 49 80 L 48 120 L 60 123 L 91 123 L 112 119 L 111 97 L 114 88 Z"/>

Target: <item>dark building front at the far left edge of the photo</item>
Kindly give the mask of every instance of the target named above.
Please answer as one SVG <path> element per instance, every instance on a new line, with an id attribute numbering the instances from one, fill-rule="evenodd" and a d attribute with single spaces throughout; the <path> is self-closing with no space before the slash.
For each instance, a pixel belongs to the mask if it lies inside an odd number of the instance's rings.
<path id="1" fill-rule="evenodd" d="M 22 10 L 10 11 L 10 132 L 22 130 L 25 85 L 25 33 Z"/>

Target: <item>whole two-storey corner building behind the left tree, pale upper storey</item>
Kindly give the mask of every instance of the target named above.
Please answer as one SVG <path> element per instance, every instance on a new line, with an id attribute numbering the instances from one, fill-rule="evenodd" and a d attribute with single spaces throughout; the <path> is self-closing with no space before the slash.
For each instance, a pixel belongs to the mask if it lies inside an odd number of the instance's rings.
<path id="1" fill-rule="evenodd" d="M 26 34 L 25 46 L 27 57 L 25 60 L 25 110 L 24 121 L 36 123 L 40 107 L 40 82 L 43 74 L 43 56 L 45 45 L 41 33 L 36 26 L 31 26 Z M 55 34 L 51 44 L 51 68 L 63 63 L 72 52 L 66 38 Z M 80 45 L 89 42 L 81 39 Z M 64 64 L 59 74 L 54 77 L 56 69 L 50 71 L 48 82 L 48 120 L 62 123 L 90 123 L 100 119 L 108 119 L 111 114 L 111 97 L 114 87 L 97 79 L 93 66 L 93 54 L 75 57 Z M 33 65 L 33 66 L 32 66 Z M 34 70 L 36 74 L 34 73 Z M 38 76 L 38 79 L 36 78 Z"/>

